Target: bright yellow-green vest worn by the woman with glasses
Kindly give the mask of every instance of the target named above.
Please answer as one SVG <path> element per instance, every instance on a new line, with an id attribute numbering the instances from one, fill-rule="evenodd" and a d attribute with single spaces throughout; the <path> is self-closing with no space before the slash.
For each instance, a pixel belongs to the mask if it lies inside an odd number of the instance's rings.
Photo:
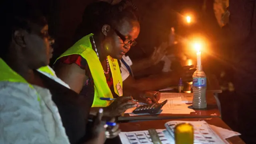
<path id="1" fill-rule="evenodd" d="M 96 52 L 94 52 L 94 50 L 92 49 L 90 36 L 93 36 L 93 34 L 89 34 L 81 38 L 60 57 L 58 57 L 57 60 L 63 56 L 69 56 L 72 54 L 79 54 L 84 59 L 86 59 L 94 81 L 94 100 L 92 107 L 106 107 L 109 105 L 110 102 L 106 100 L 100 100 L 100 98 L 113 98 L 113 95 L 106 82 L 106 77 L 100 60 Z M 118 83 L 120 83 L 120 86 L 122 87 L 122 76 L 118 65 L 118 60 L 111 58 L 110 56 L 108 56 L 107 58 L 112 73 L 114 91 L 118 96 L 120 96 L 116 88 Z"/>

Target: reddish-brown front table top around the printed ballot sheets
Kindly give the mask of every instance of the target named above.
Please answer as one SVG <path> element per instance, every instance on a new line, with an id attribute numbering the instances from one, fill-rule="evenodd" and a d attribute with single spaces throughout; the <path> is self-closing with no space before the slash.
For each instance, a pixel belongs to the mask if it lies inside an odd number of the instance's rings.
<path id="1" fill-rule="evenodd" d="M 189 119 L 174 119 L 174 120 L 184 120 L 184 121 L 200 121 L 205 120 L 208 124 L 218 126 L 231 130 L 231 128 L 225 124 L 220 118 L 189 118 Z M 141 121 L 141 122 L 126 122 L 119 125 L 122 132 L 132 132 L 140 130 L 148 130 L 150 128 L 164 129 L 164 124 L 171 120 L 151 120 L 151 121 Z M 227 139 L 231 144 L 245 144 L 239 136 L 233 136 Z M 114 138 L 107 140 L 105 144 L 121 144 L 120 138 Z"/>

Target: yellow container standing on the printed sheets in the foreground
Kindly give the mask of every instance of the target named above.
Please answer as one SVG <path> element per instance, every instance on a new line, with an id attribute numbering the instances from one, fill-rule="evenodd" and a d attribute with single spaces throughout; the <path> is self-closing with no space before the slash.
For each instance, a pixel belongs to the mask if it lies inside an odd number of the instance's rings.
<path id="1" fill-rule="evenodd" d="M 194 127 L 188 123 L 177 124 L 174 136 L 175 144 L 194 144 Z"/>

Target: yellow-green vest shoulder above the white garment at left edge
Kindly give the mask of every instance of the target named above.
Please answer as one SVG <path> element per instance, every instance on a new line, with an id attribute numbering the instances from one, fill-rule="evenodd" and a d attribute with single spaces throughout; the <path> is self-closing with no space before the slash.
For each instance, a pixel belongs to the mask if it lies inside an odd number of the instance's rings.
<path id="1" fill-rule="evenodd" d="M 2 58 L 0 58 L 0 82 L 20 82 L 28 84 L 28 86 L 32 89 L 34 87 L 29 84 L 22 76 L 17 74 L 10 66 L 4 62 Z M 37 95 L 37 100 L 40 101 L 40 97 Z"/>

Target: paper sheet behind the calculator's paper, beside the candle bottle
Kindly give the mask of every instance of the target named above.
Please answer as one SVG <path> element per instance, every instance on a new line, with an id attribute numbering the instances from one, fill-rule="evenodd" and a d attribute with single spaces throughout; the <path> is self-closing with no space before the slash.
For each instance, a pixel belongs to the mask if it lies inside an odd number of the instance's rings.
<path id="1" fill-rule="evenodd" d="M 171 92 L 161 92 L 160 100 L 167 98 L 178 98 L 181 97 L 182 102 L 192 103 L 193 93 L 171 93 Z"/>

